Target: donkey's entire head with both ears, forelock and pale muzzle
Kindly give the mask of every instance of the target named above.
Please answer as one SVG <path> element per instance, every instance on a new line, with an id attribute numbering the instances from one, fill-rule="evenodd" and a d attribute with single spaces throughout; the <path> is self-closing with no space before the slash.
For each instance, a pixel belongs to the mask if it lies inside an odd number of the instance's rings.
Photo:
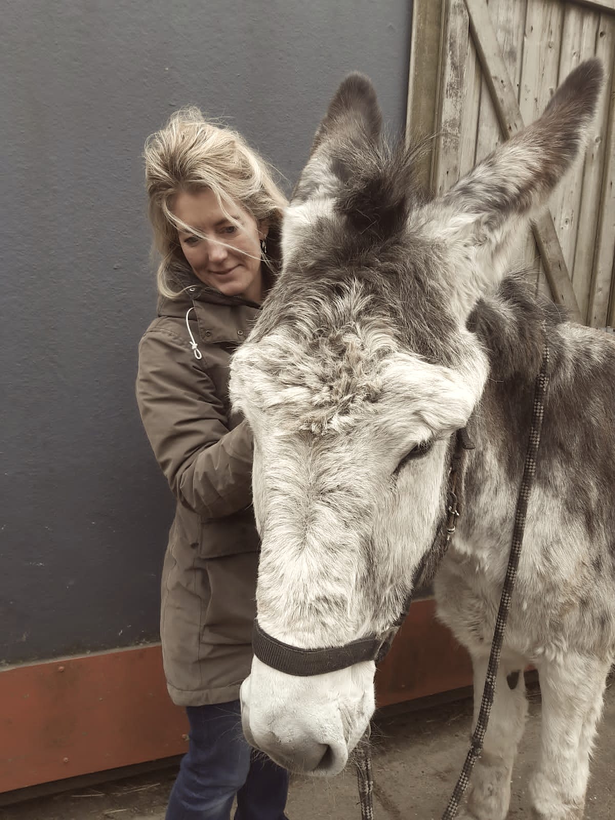
<path id="1" fill-rule="evenodd" d="M 413 189 L 412 152 L 382 148 L 369 81 L 340 86 L 286 212 L 280 280 L 232 366 L 254 434 L 257 619 L 273 638 L 337 647 L 399 616 L 444 515 L 451 435 L 485 384 L 468 313 L 576 156 L 600 81 L 597 62 L 580 66 L 539 121 L 431 201 Z M 374 670 L 297 676 L 255 658 L 248 740 L 290 768 L 339 772 L 371 717 Z"/>

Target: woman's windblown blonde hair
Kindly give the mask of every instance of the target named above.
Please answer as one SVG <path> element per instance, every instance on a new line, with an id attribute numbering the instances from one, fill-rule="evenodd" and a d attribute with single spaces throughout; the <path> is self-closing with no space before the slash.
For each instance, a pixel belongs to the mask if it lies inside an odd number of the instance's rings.
<path id="1" fill-rule="evenodd" d="M 227 216 L 230 203 L 239 203 L 257 223 L 268 222 L 270 235 L 278 233 L 286 198 L 273 180 L 273 170 L 240 134 L 207 122 L 198 108 L 175 112 L 162 130 L 148 137 L 144 158 L 148 216 L 160 255 L 157 288 L 162 296 L 179 296 L 192 280 L 177 230 L 192 230 L 196 235 L 198 231 L 171 212 L 172 200 L 181 191 L 210 189 Z"/>

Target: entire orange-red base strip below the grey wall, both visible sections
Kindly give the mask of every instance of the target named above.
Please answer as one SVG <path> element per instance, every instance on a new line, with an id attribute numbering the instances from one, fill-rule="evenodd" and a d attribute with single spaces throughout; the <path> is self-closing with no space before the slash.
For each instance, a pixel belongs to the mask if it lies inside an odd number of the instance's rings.
<path id="1" fill-rule="evenodd" d="M 431 600 L 412 604 L 376 674 L 380 705 L 471 682 L 433 613 Z M 11 667 L 0 672 L 0 792 L 181 754 L 187 730 L 159 645 Z"/>

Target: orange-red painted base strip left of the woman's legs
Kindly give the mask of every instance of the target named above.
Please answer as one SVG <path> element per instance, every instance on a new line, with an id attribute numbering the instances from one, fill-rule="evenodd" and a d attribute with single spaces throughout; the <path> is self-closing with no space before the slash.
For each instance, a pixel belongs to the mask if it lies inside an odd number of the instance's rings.
<path id="1" fill-rule="evenodd" d="M 159 645 L 7 669 L 0 792 L 180 754 L 186 731 Z"/>

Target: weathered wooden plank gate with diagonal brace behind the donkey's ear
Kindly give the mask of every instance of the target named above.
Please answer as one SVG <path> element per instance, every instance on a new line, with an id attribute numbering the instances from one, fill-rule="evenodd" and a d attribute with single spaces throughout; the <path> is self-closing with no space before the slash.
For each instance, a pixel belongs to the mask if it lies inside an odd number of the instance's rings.
<path id="1" fill-rule="evenodd" d="M 615 325 L 615 0 L 414 0 L 407 135 L 435 134 L 420 175 L 440 193 L 593 56 L 605 87 L 587 152 L 516 262 L 577 321 L 604 327 Z"/>

